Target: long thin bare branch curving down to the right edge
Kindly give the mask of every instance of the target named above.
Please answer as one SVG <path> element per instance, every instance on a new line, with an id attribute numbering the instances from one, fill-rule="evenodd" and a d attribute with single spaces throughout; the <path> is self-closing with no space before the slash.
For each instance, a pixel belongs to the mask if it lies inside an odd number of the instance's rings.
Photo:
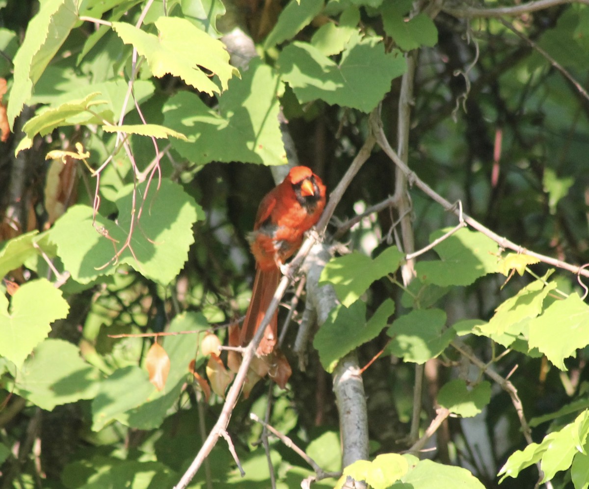
<path id="1" fill-rule="evenodd" d="M 444 199 L 440 194 L 438 194 L 432 187 L 426 184 L 423 180 L 421 180 L 413 171 L 409 169 L 405 161 L 401 160 L 395 150 L 391 147 L 386 136 L 382 130 L 382 122 L 380 120 L 372 120 L 373 123 L 373 134 L 375 134 L 376 141 L 378 142 L 379 146 L 385 151 L 386 155 L 391 158 L 395 162 L 395 164 L 401 168 L 403 173 L 405 173 L 408 177 L 409 183 L 415 185 L 423 191 L 430 199 L 434 200 L 445 210 L 448 212 L 453 212 L 456 216 L 460 216 L 461 211 L 456 209 L 454 204 L 451 204 L 448 200 Z M 541 253 L 535 253 L 530 250 L 525 249 L 523 246 L 517 245 L 506 237 L 499 236 L 499 234 L 491 231 L 488 227 L 483 226 L 483 224 L 479 223 L 476 219 L 473 219 L 468 214 L 462 213 L 462 217 L 464 222 L 471 226 L 472 228 L 476 229 L 477 231 L 483 233 L 485 236 L 492 239 L 495 243 L 501 246 L 504 249 L 514 250 L 516 253 L 523 253 L 525 255 L 533 256 L 537 258 L 543 263 L 547 265 L 551 265 L 557 268 L 561 268 L 563 270 L 567 270 L 568 272 L 574 273 L 575 275 L 583 275 L 584 277 L 589 277 L 589 270 L 583 269 L 578 265 L 571 265 L 570 263 L 562 262 L 561 260 L 557 260 L 552 258 L 551 256 L 541 255 Z"/>

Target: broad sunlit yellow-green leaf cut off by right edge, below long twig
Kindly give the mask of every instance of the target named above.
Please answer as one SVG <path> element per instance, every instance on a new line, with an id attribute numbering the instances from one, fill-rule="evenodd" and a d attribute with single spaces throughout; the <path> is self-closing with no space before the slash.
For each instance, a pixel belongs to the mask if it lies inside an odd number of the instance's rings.
<path id="1" fill-rule="evenodd" d="M 541 316 L 530 321 L 529 328 L 530 347 L 538 348 L 564 371 L 564 359 L 589 345 L 589 306 L 573 293 L 553 302 Z"/>

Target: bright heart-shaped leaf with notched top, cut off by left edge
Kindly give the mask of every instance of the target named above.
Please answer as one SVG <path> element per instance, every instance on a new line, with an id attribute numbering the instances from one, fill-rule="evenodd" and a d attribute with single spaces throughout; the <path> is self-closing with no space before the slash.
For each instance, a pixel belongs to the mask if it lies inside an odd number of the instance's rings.
<path id="1" fill-rule="evenodd" d="M 51 323 L 63 319 L 70 306 L 48 280 L 31 280 L 21 285 L 8 309 L 0 294 L 0 355 L 19 368 L 25 358 L 51 331 Z"/>

